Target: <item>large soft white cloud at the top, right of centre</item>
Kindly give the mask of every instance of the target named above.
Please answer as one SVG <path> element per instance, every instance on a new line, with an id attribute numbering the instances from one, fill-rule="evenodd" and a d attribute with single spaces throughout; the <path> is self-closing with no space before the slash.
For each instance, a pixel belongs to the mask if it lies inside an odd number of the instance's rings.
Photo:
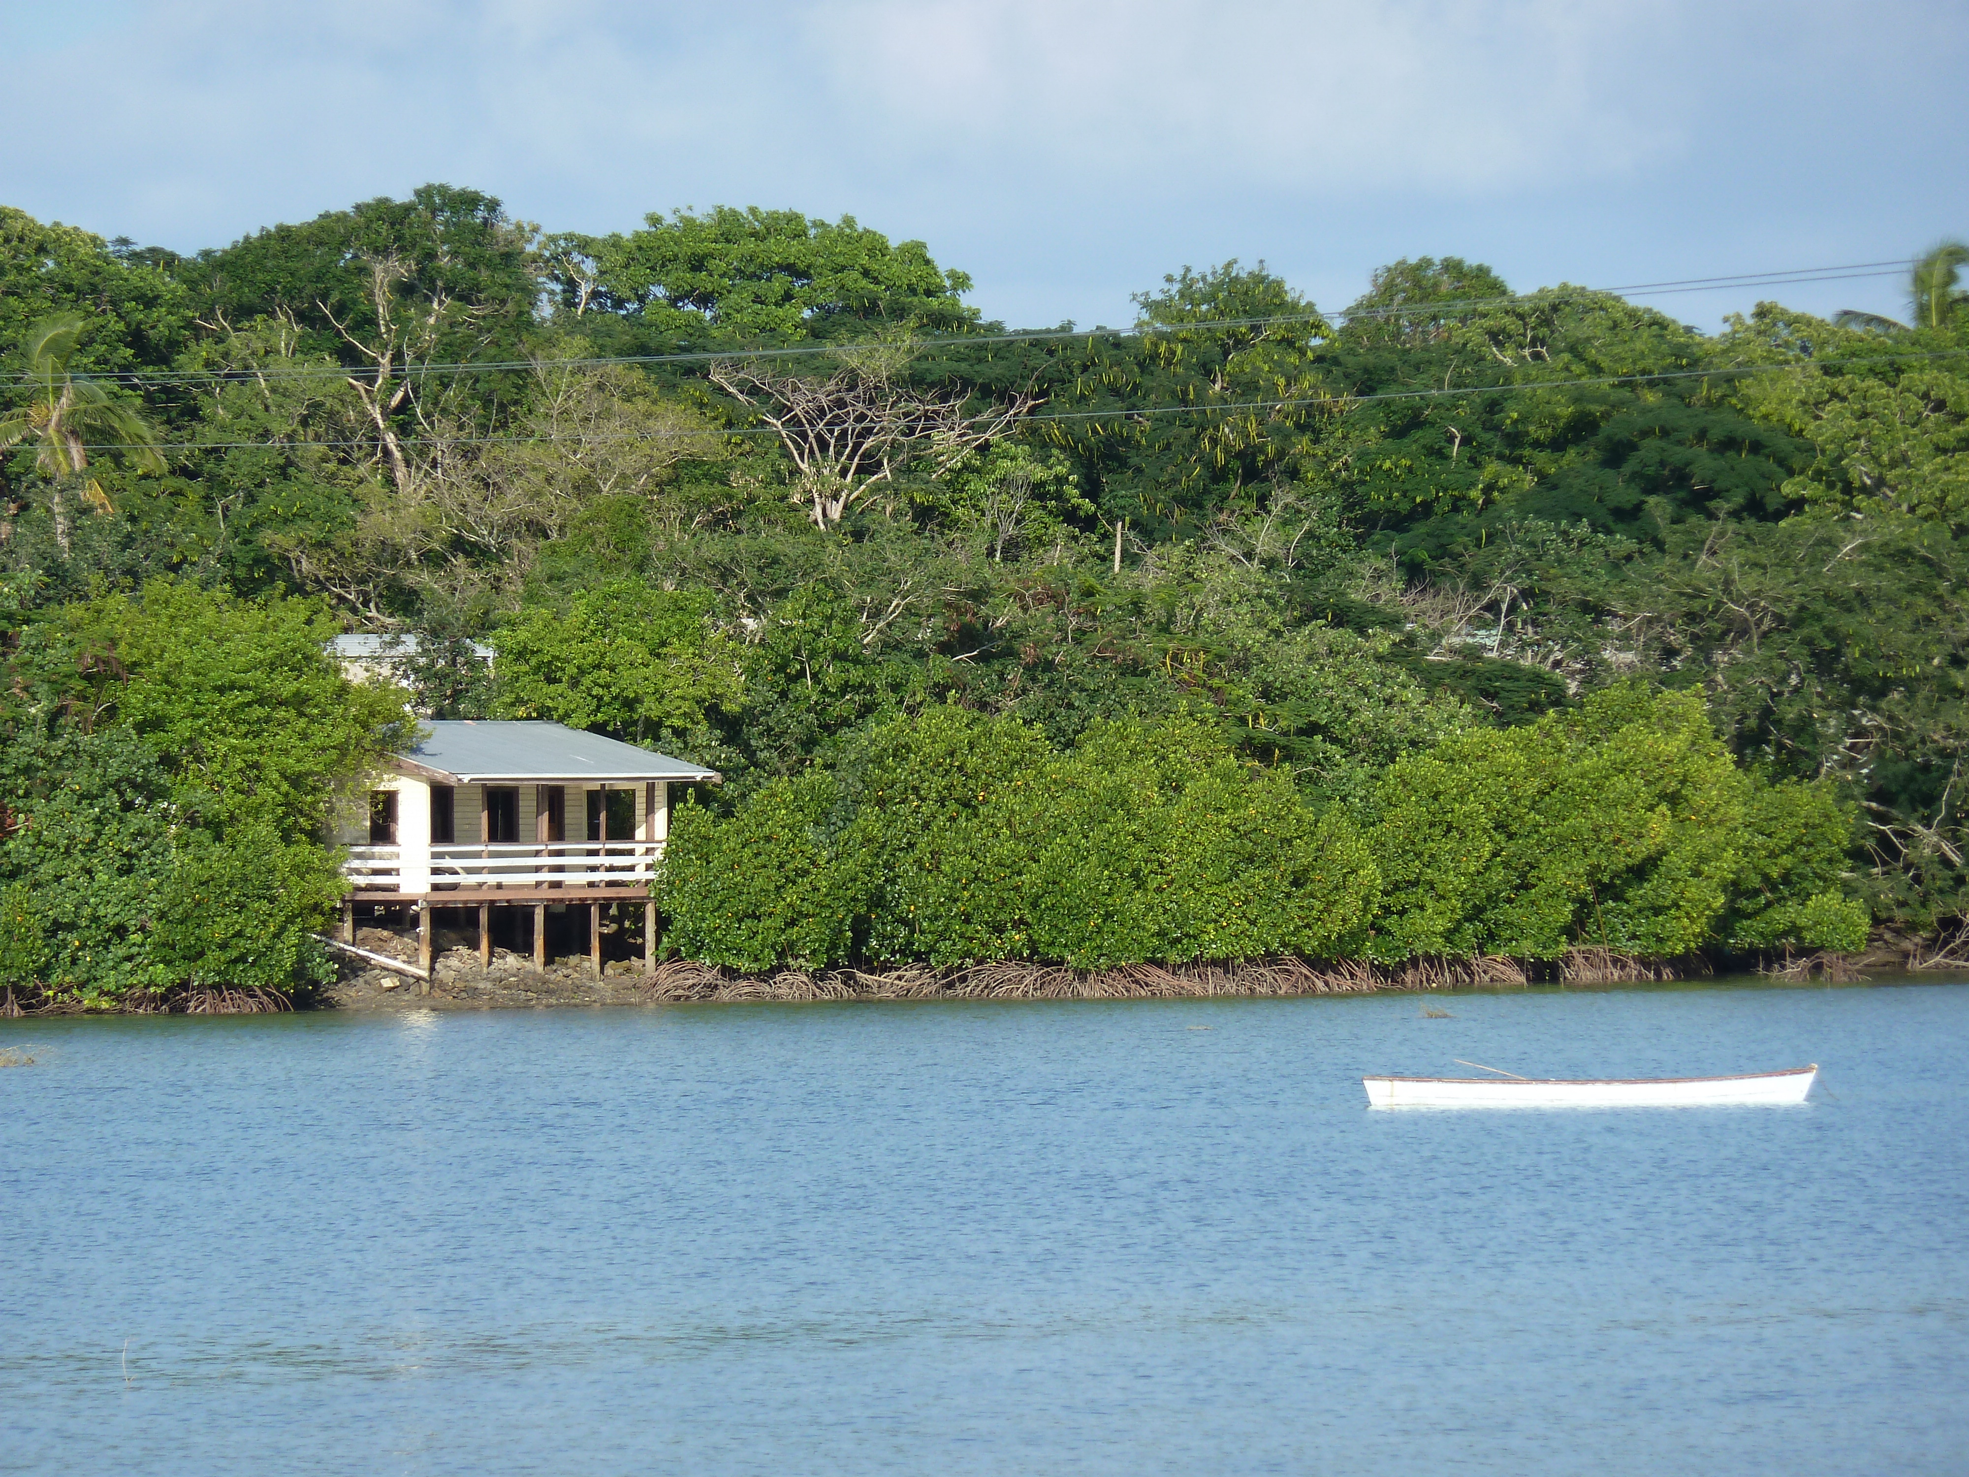
<path id="1" fill-rule="evenodd" d="M 1622 73 L 1668 6 L 862 0 L 807 18 L 843 91 L 949 146 L 1138 175 L 1477 191 L 1670 148 Z"/>

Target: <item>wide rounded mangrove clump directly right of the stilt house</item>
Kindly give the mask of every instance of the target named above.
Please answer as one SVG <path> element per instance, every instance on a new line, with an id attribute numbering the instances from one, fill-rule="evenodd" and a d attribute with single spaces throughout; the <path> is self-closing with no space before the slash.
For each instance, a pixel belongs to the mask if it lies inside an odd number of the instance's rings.
<path id="1" fill-rule="evenodd" d="M 1353 825 L 1209 725 L 1099 725 L 1057 754 L 1014 719 L 935 709 L 872 731 L 841 780 L 776 782 L 727 821 L 691 811 L 662 896 L 673 943 L 709 963 L 813 967 L 858 945 L 1099 969 L 1339 953 L 1374 890 Z"/>

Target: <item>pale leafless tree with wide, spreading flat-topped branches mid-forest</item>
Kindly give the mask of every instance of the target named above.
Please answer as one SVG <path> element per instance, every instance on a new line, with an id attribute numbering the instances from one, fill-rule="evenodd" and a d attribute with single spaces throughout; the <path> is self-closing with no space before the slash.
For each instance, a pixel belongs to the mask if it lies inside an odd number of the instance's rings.
<path id="1" fill-rule="evenodd" d="M 815 528 L 839 524 L 912 461 L 927 461 L 929 475 L 943 477 L 1044 404 L 1022 390 L 973 414 L 963 396 L 914 390 L 888 366 L 868 362 L 807 380 L 723 358 L 711 366 L 711 382 L 778 431 L 799 471 L 797 502 Z"/>

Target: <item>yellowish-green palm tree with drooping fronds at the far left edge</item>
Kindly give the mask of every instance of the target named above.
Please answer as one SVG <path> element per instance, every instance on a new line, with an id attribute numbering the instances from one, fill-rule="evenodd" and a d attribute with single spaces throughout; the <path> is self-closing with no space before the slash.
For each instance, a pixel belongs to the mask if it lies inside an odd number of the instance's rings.
<path id="1" fill-rule="evenodd" d="M 69 553 L 69 510 L 63 488 L 69 479 L 89 469 L 91 439 L 128 453 L 142 471 L 163 473 L 158 437 L 144 417 L 110 400 L 95 380 L 77 380 L 69 374 L 81 333 L 83 319 L 73 315 L 41 319 L 28 329 L 22 349 L 33 380 L 33 398 L 0 414 L 0 451 L 28 439 L 35 443 L 33 465 L 49 481 L 55 542 L 63 553 Z M 83 482 L 81 492 L 93 508 L 108 512 L 110 498 L 95 477 Z"/>

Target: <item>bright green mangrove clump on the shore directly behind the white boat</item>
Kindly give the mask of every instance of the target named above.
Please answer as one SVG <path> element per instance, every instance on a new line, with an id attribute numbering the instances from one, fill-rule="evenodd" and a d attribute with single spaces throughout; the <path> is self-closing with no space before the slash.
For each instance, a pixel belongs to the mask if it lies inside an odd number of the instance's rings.
<path id="1" fill-rule="evenodd" d="M 1372 953 L 1859 947 L 1867 912 L 1837 890 L 1849 825 L 1823 788 L 1739 770 L 1697 699 L 1609 689 L 1388 770 Z"/>

